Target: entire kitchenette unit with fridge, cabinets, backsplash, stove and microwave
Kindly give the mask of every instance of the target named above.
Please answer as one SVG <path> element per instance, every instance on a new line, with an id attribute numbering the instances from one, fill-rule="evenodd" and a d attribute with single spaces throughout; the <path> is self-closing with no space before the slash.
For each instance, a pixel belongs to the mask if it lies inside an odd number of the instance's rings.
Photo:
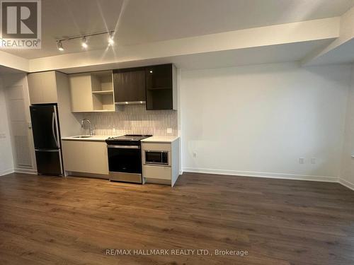
<path id="1" fill-rule="evenodd" d="M 173 187 L 180 172 L 176 90 L 173 64 L 69 75 L 58 71 L 28 74 L 38 174 Z M 121 129 L 127 134 L 120 134 L 115 112 L 130 117 L 132 111 L 142 116 L 127 120 L 132 128 Z M 95 117 L 91 118 L 95 112 L 105 129 L 96 128 Z M 164 132 L 152 124 L 154 119 L 164 122 L 161 115 L 171 124 Z M 152 120 L 136 120 L 144 116 Z M 76 135 L 81 131 L 87 134 Z"/>

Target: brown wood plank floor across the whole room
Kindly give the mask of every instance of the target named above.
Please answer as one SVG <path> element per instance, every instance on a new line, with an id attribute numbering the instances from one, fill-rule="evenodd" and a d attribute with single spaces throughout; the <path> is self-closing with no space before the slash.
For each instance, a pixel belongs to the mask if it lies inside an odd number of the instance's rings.
<path id="1" fill-rule="evenodd" d="M 215 249 L 249 254 L 216 256 Z M 336 183 L 194 173 L 173 189 L 15 173 L 0 177 L 0 264 L 354 264 L 354 192 Z"/>

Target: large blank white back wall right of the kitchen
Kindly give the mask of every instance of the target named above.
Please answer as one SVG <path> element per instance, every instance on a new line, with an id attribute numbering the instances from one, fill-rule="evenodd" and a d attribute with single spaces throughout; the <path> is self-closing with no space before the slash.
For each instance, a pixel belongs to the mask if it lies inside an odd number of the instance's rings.
<path id="1" fill-rule="evenodd" d="M 349 65 L 181 71 L 183 171 L 336 181 L 349 83 Z"/>

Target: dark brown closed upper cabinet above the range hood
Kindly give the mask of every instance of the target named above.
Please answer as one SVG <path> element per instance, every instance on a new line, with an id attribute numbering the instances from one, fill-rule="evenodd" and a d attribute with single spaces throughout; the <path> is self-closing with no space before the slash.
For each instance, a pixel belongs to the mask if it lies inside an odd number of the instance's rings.
<path id="1" fill-rule="evenodd" d="M 145 102 L 145 67 L 113 70 L 114 101 Z"/>

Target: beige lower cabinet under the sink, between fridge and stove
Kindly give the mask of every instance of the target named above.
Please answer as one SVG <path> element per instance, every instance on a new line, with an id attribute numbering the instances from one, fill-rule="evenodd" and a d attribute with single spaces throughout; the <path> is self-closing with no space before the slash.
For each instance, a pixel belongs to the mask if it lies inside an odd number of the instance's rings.
<path id="1" fill-rule="evenodd" d="M 64 170 L 108 175 L 107 144 L 99 141 L 62 141 Z"/>

